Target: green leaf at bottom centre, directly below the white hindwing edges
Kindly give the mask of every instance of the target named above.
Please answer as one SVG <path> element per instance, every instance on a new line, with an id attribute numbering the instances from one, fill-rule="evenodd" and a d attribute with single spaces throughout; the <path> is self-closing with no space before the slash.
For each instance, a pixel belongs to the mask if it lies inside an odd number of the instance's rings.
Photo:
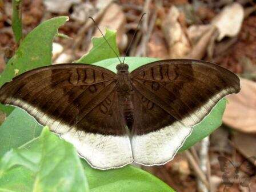
<path id="1" fill-rule="evenodd" d="M 120 169 L 101 171 L 91 168 L 85 161 L 82 161 L 82 163 L 85 167 L 85 174 L 89 181 L 90 191 L 93 192 L 174 191 L 160 179 L 131 165 Z"/>

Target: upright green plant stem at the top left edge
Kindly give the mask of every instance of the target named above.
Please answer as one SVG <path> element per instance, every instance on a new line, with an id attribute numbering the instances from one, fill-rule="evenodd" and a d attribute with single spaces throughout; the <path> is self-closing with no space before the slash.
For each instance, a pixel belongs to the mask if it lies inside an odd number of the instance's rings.
<path id="1" fill-rule="evenodd" d="M 21 5 L 22 0 L 13 0 L 13 17 L 12 17 L 12 27 L 17 45 L 22 39 L 22 17 L 21 17 Z"/>

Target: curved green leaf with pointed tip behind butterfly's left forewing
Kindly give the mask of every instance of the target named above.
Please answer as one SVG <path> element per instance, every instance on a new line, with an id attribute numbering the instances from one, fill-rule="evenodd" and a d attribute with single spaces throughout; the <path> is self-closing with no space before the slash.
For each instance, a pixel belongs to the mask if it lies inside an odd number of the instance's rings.
<path id="1" fill-rule="evenodd" d="M 68 20 L 68 17 L 55 17 L 35 27 L 6 65 L 0 76 L 0 86 L 11 81 L 13 77 L 25 71 L 51 65 L 52 44 L 58 28 Z M 0 105 L 0 109 L 7 114 L 14 109 L 11 106 Z"/>

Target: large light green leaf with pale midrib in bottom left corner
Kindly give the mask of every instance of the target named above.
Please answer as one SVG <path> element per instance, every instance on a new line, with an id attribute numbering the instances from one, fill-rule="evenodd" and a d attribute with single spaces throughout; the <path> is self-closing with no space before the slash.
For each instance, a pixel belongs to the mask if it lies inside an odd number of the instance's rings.
<path id="1" fill-rule="evenodd" d="M 47 127 L 37 140 L 2 157 L 0 191 L 89 191 L 81 161 L 70 143 Z"/>

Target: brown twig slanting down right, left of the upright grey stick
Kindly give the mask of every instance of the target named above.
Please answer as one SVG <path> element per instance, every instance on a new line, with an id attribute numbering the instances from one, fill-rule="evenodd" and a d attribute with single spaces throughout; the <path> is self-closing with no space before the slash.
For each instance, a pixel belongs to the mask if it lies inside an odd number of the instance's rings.
<path id="1" fill-rule="evenodd" d="M 198 163 L 195 161 L 193 155 L 188 150 L 184 151 L 184 153 L 185 153 L 187 159 L 189 160 L 190 165 L 194 169 L 197 177 L 202 181 L 203 184 L 206 185 L 207 189 L 209 189 L 210 186 L 209 186 L 209 183 L 207 182 L 205 174 L 203 174 L 203 171 L 198 166 Z"/>

